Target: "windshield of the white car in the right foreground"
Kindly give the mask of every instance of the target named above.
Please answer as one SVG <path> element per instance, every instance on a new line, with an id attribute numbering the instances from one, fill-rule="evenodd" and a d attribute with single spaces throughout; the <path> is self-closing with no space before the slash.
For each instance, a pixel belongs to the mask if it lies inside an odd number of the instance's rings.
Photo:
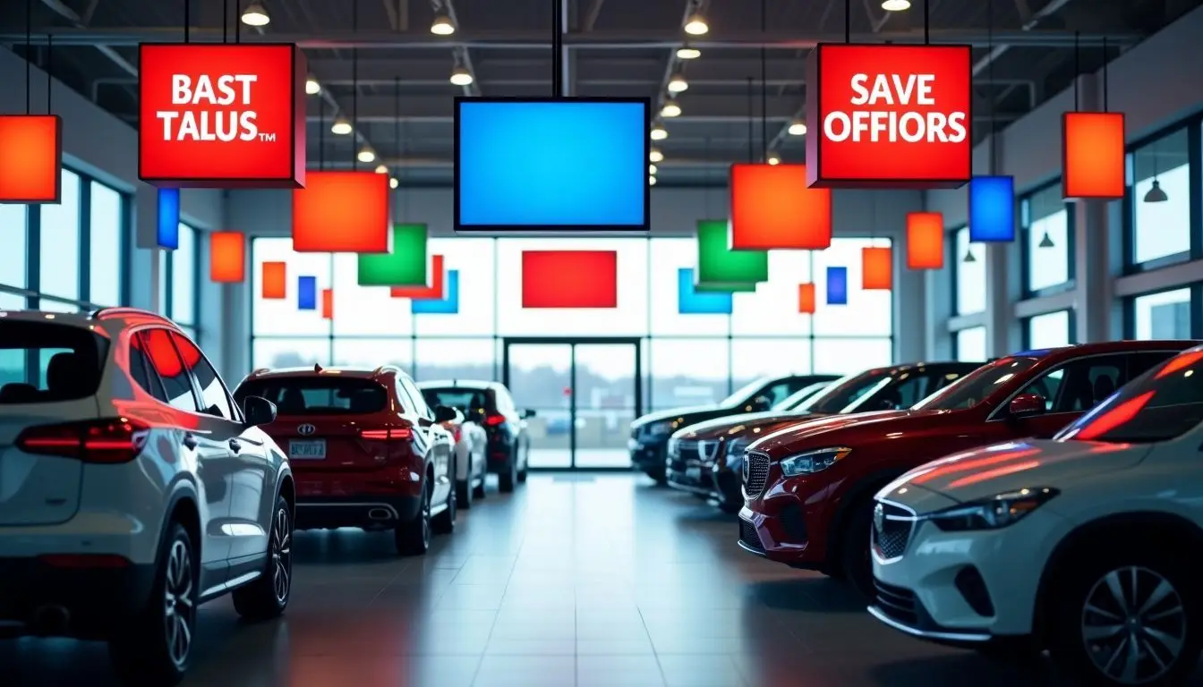
<path id="1" fill-rule="evenodd" d="M 1059 442 L 1146 444 L 1203 421 L 1203 349 L 1181 353 L 1124 386 L 1061 430 Z"/>

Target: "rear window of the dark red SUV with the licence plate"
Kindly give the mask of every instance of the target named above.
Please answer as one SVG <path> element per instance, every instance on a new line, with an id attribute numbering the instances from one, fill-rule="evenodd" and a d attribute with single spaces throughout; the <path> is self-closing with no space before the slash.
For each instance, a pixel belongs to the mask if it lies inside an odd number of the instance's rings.
<path id="1" fill-rule="evenodd" d="M 243 383 L 233 397 L 262 396 L 280 415 L 360 415 L 379 413 L 389 392 L 379 383 L 352 377 L 275 377 Z"/>

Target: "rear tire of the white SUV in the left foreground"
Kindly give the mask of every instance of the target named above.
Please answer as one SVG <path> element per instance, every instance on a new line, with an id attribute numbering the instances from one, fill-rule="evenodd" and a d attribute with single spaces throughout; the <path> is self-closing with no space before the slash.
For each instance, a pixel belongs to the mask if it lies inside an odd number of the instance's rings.
<path id="1" fill-rule="evenodd" d="M 179 522 L 168 525 L 150 599 L 108 641 L 113 669 L 131 685 L 177 685 L 188 673 L 196 635 L 200 559 Z"/>

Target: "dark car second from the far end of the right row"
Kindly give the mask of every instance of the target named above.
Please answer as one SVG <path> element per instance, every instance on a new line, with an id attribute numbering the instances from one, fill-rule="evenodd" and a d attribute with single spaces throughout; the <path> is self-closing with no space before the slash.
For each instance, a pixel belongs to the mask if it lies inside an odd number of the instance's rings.
<path id="1" fill-rule="evenodd" d="M 801 401 L 798 395 L 764 413 L 741 413 L 689 425 L 669 439 L 669 485 L 718 501 L 727 513 L 743 507 L 743 450 L 777 430 L 838 413 L 909 408 L 977 362 L 919 362 L 849 374 Z"/>

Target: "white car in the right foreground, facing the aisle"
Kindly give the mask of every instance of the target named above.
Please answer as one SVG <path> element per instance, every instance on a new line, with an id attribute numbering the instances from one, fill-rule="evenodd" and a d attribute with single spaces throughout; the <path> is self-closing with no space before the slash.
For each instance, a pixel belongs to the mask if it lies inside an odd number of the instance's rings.
<path id="1" fill-rule="evenodd" d="M 995 444 L 877 494 L 878 620 L 995 652 L 1050 650 L 1090 685 L 1180 685 L 1199 655 L 1203 347 L 1053 440 Z"/>

